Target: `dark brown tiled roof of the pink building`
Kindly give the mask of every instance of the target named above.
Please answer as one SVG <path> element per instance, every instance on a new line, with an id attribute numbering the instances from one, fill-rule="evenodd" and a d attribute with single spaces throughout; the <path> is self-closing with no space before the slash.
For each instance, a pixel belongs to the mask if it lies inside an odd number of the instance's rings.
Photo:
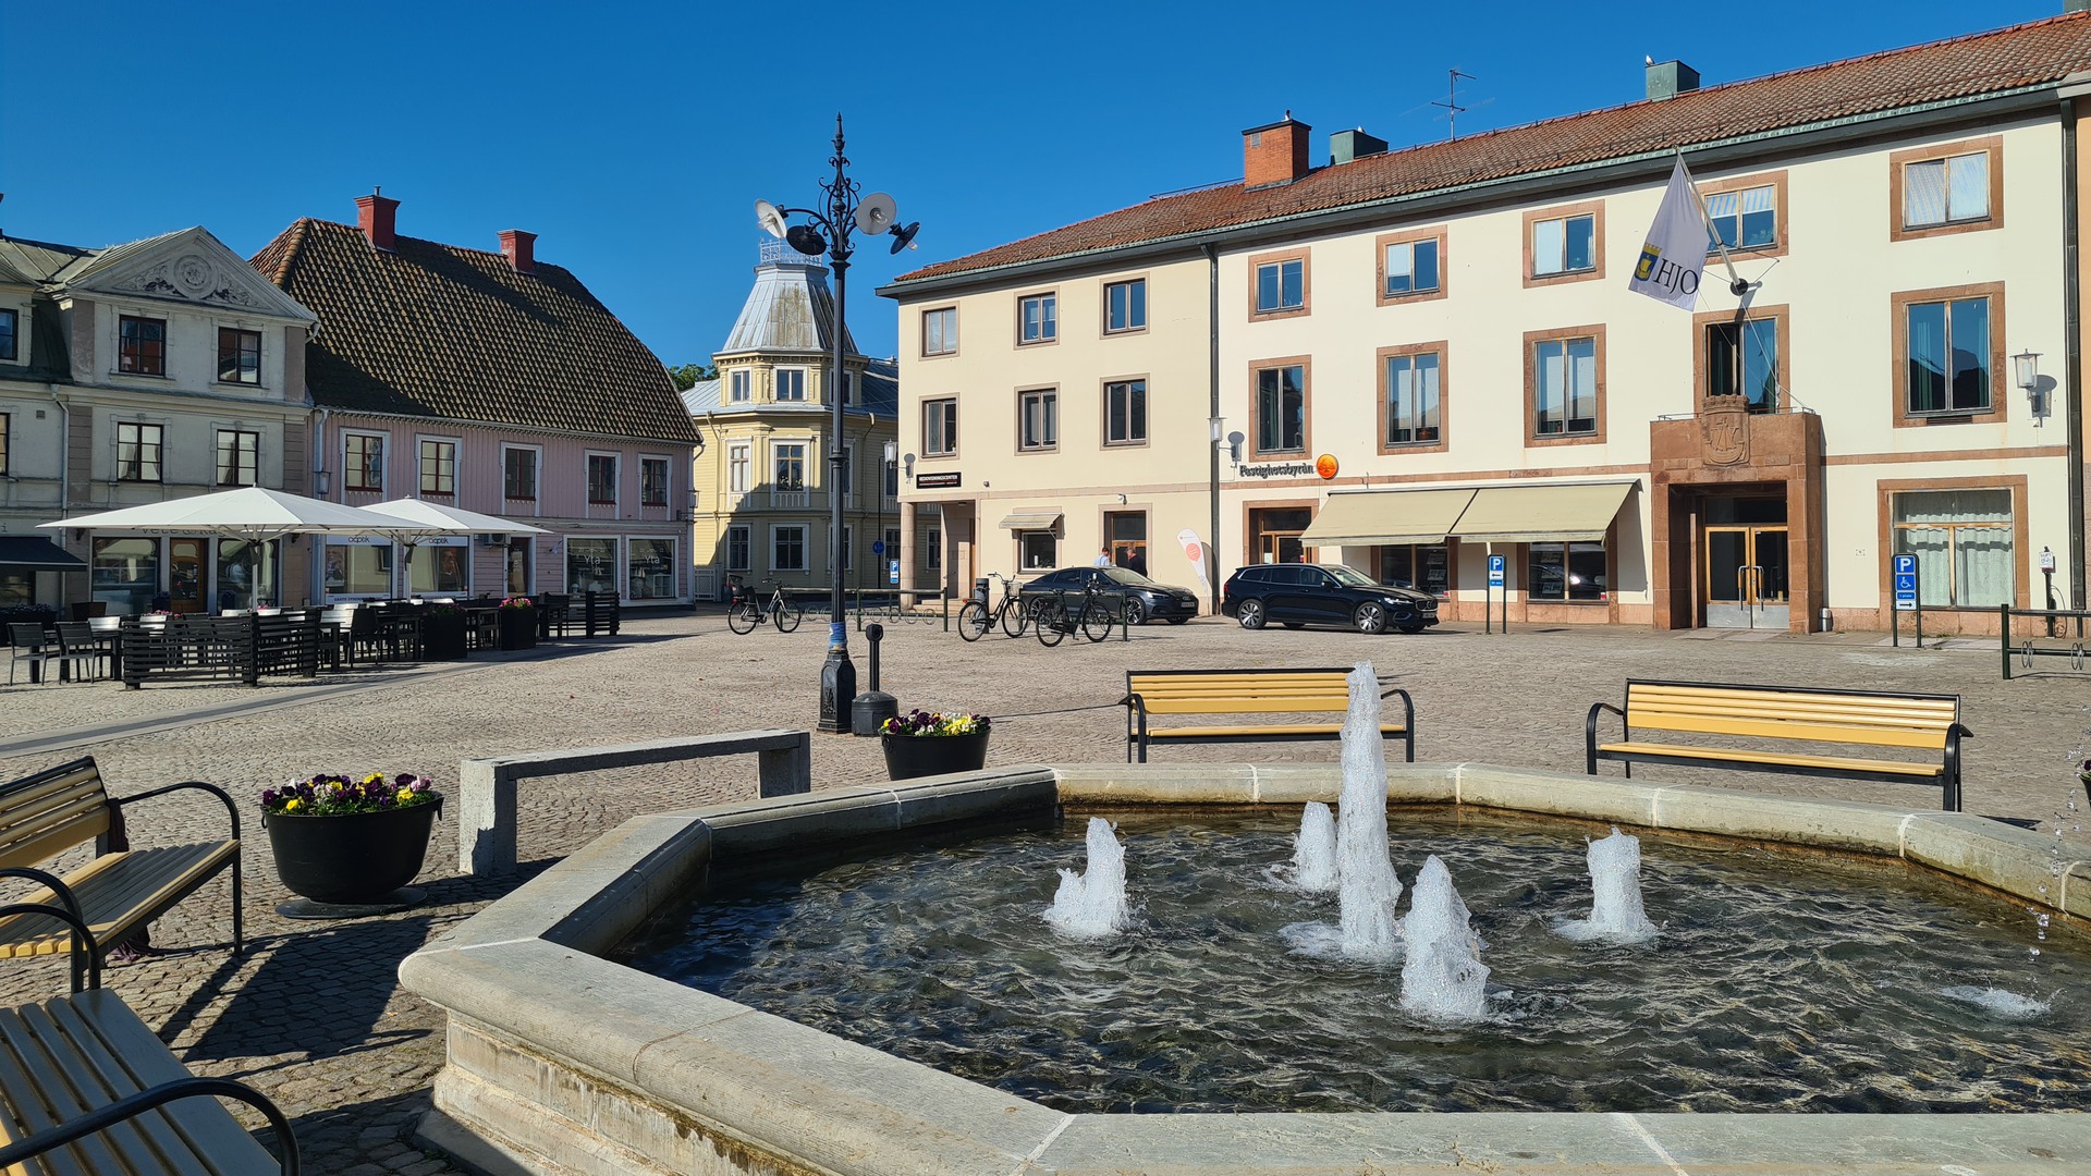
<path id="1" fill-rule="evenodd" d="M 345 412 L 696 444 L 661 360 L 573 274 L 299 220 L 253 266 L 320 316 L 305 383 Z"/>

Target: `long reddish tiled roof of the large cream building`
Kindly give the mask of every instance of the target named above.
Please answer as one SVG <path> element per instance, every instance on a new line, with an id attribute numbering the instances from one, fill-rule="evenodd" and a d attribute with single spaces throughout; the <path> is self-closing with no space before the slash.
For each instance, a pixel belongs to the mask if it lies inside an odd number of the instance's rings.
<path id="1" fill-rule="evenodd" d="M 2091 69 L 2091 13 L 1627 103 L 1317 167 L 1257 190 L 1240 182 L 1156 197 L 1092 220 L 901 274 L 943 278 L 1196 236 L 1434 190 L 1631 159 L 1905 107 L 2003 94 Z"/>

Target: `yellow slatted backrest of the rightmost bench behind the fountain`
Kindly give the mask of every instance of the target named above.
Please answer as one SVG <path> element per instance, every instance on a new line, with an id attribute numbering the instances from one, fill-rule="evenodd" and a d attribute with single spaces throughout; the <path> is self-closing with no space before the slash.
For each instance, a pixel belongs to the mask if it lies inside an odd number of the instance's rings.
<path id="1" fill-rule="evenodd" d="M 1947 728 L 1955 722 L 1959 722 L 1959 695 L 1627 682 L 1629 730 L 1945 747 Z"/>

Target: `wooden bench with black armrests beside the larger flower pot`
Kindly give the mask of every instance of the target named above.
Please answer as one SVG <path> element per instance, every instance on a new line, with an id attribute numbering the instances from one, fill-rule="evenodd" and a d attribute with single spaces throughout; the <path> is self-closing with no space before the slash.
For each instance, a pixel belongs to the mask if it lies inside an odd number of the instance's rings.
<path id="1" fill-rule="evenodd" d="M 132 850 L 123 806 L 182 789 L 201 789 L 226 806 L 232 835 L 224 841 Z M 65 877 L 42 868 L 59 854 L 94 843 L 94 858 Z M 232 870 L 232 950 L 245 948 L 240 925 L 240 814 L 215 785 L 186 781 L 130 797 L 111 797 L 94 757 L 73 760 L 33 776 L 0 785 L 0 877 L 19 877 L 42 889 L 25 902 L 56 902 L 109 946 L 142 931 L 222 870 Z M 73 931 L 46 919 L 0 919 L 0 956 L 48 956 L 67 950 Z"/>

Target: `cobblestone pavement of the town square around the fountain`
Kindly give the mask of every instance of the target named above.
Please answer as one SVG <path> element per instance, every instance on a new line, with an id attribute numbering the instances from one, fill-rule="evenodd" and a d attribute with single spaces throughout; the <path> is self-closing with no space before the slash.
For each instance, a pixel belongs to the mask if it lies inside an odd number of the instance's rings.
<path id="1" fill-rule="evenodd" d="M 859 684 L 866 644 L 851 634 Z M 523 877 L 613 824 L 755 789 L 753 760 L 631 768 L 585 778 L 525 783 L 521 860 L 504 879 L 456 870 L 456 827 L 437 827 L 412 910 L 358 921 L 289 921 L 289 894 L 259 835 L 261 787 L 320 770 L 416 770 L 456 781 L 458 760 L 512 751 L 623 743 L 751 726 L 815 722 L 826 628 L 734 636 L 715 613 L 631 617 L 617 638 L 567 640 L 529 653 L 483 653 L 464 663 L 362 668 L 318 682 L 226 684 L 111 682 L 0 688 L 0 778 L 92 753 L 117 795 L 203 778 L 228 787 L 247 822 L 245 956 L 230 954 L 230 885 L 211 883 L 155 925 L 167 954 L 123 965 L 109 986 L 167 1040 L 190 1069 L 232 1076 L 270 1092 L 291 1115 L 314 1172 L 452 1172 L 406 1143 L 429 1107 L 443 1057 L 443 1021 L 399 990 L 401 958 L 473 914 Z M 1244 632 L 1198 619 L 1148 626 L 1131 640 L 1071 638 L 1043 649 L 1029 636 L 960 642 L 939 624 L 889 624 L 882 686 L 903 707 L 966 707 L 995 716 L 991 764 L 1123 760 L 1127 668 L 1349 665 L 1372 659 L 1409 688 L 1418 757 L 1539 768 L 1581 766 L 1583 716 L 1616 701 L 1627 676 L 1710 682 L 1786 682 L 1959 693 L 1968 745 L 1968 810 L 2053 816 L 2081 789 L 2091 674 L 2066 657 L 2001 680 L 1995 640 L 1901 649 L 1884 634 L 1652 634 L 1520 630 L 1483 634 L 1445 626 L 1418 636 Z M 2028 674 L 2014 670 L 2016 674 Z M 1169 747 L 1158 760 L 1330 760 L 1332 745 Z M 1897 785 L 1853 785 L 1761 774 L 1644 768 L 1646 778 L 1702 778 L 1742 789 L 1930 804 Z M 874 739 L 813 737 L 815 787 L 884 778 Z M 148 801 L 132 818 L 140 845 L 201 837 L 222 812 Z M 2070 837 L 2076 837 L 2074 833 Z M 8 960 L 0 998 L 63 990 L 52 960 Z"/>

